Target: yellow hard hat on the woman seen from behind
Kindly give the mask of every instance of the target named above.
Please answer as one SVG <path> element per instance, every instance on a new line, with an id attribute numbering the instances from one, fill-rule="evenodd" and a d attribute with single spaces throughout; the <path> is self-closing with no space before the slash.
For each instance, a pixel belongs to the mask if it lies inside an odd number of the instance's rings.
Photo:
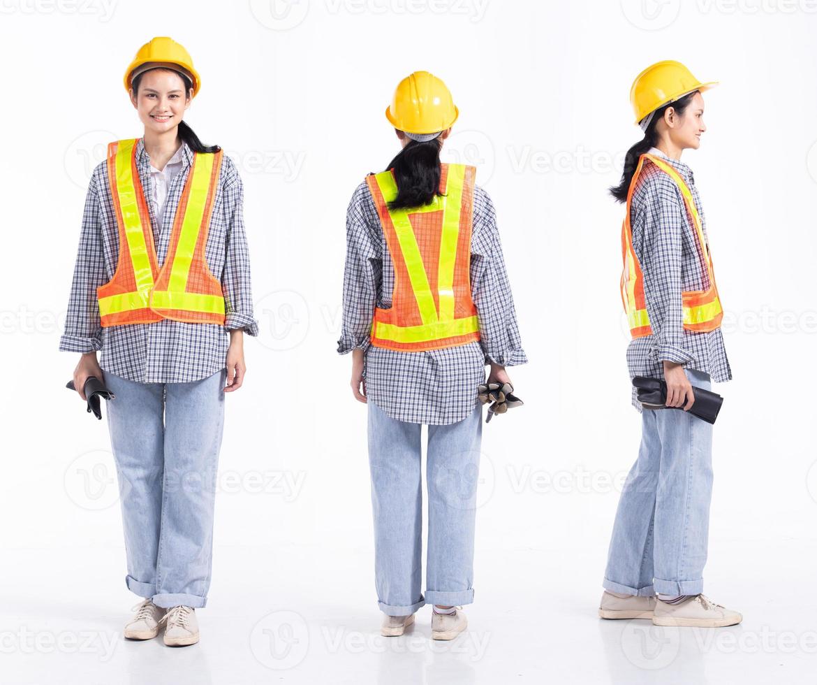
<path id="1" fill-rule="evenodd" d="M 459 110 L 441 78 L 415 71 L 398 84 L 386 119 L 407 133 L 436 133 L 457 121 Z"/>

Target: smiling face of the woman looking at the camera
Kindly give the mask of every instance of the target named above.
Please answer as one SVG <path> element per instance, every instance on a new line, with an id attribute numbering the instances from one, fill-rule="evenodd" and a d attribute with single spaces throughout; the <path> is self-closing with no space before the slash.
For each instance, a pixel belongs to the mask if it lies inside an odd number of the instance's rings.
<path id="1" fill-rule="evenodd" d="M 131 102 L 145 124 L 145 131 L 164 133 L 179 125 L 190 107 L 185 80 L 170 69 L 150 69 L 142 74 L 139 92 L 131 89 Z"/>

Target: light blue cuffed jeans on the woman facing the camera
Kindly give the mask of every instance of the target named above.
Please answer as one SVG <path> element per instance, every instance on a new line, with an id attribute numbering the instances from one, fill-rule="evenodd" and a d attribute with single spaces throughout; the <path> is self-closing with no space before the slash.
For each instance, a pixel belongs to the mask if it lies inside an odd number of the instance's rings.
<path id="1" fill-rule="evenodd" d="M 105 374 L 127 554 L 125 584 L 158 607 L 204 607 L 224 426 L 222 369 L 192 383 Z"/>

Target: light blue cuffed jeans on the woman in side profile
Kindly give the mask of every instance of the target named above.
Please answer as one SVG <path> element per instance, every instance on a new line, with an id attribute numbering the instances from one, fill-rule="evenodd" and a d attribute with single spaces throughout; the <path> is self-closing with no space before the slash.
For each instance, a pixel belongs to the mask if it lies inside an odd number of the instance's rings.
<path id="1" fill-rule="evenodd" d="M 709 375 L 685 369 L 696 387 Z M 712 499 L 712 425 L 682 410 L 644 410 L 624 483 L 604 587 L 648 596 L 703 592 Z"/>

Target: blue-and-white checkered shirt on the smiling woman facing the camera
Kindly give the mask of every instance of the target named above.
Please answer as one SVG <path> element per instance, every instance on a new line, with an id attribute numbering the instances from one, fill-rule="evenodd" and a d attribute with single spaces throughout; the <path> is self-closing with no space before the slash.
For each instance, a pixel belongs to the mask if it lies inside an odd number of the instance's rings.
<path id="1" fill-rule="evenodd" d="M 167 256 L 176 206 L 193 161 L 193 151 L 181 144 L 181 171 L 168 189 L 162 221 L 148 202 L 158 264 Z M 155 199 L 150 157 L 140 139 L 136 166 L 147 198 Z M 205 249 L 208 266 L 221 280 L 225 325 L 190 324 L 164 319 L 153 324 L 100 325 L 96 288 L 114 276 L 118 262 L 119 232 L 105 162 L 95 169 L 85 199 L 83 226 L 74 266 L 74 280 L 60 350 L 101 350 L 103 371 L 137 383 L 189 383 L 225 368 L 230 329 L 258 334 L 252 313 L 250 261 L 243 224 L 243 184 L 233 161 L 223 156 Z"/>

